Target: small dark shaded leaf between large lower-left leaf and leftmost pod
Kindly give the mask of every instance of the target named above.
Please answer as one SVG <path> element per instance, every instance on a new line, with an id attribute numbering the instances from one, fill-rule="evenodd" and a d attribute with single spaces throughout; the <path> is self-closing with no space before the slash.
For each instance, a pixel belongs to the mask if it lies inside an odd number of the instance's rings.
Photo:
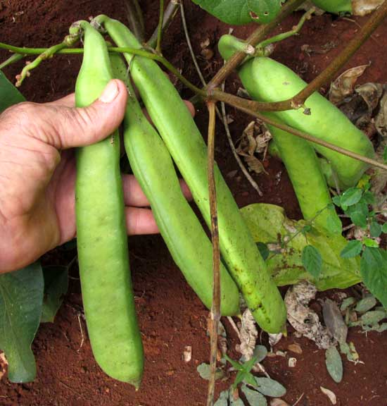
<path id="1" fill-rule="evenodd" d="M 41 322 L 53 323 L 68 290 L 68 268 L 67 266 L 47 266 L 43 269 L 43 276 L 44 300 Z"/>

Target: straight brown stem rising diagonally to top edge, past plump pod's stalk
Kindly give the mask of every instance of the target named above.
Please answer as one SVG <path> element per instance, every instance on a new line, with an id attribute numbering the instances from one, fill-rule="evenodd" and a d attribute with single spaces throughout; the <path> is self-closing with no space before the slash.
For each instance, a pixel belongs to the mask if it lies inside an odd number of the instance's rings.
<path id="1" fill-rule="evenodd" d="M 274 30 L 279 23 L 281 23 L 284 18 L 286 18 L 289 14 L 293 13 L 296 8 L 298 8 L 301 4 L 305 3 L 305 0 L 289 0 L 286 2 L 286 4 L 282 7 L 281 13 L 272 20 L 271 23 L 265 24 L 265 25 L 260 25 L 260 27 L 257 28 L 253 32 L 248 39 L 246 39 L 246 44 L 257 45 L 259 42 L 261 42 L 263 39 L 265 39 L 266 35 L 269 34 L 272 30 Z M 224 65 L 217 73 L 216 75 L 212 78 L 212 80 L 208 83 L 208 89 L 214 89 L 215 87 L 220 86 L 222 82 L 224 82 L 224 79 L 227 78 L 227 76 L 230 75 L 230 73 L 240 65 L 240 63 L 245 59 L 246 54 L 244 52 L 236 52 L 231 58 L 227 61 L 226 65 Z"/>

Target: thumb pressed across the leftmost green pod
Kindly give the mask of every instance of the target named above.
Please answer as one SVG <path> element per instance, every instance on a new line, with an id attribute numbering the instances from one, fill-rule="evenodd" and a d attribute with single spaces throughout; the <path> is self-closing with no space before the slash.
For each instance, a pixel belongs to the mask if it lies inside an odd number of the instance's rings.
<path id="1" fill-rule="evenodd" d="M 121 80 L 110 80 L 99 99 L 90 106 L 48 106 L 55 111 L 51 111 L 49 119 L 51 134 L 43 131 L 40 137 L 57 149 L 94 144 L 118 128 L 124 118 L 126 101 L 125 84 Z"/>

